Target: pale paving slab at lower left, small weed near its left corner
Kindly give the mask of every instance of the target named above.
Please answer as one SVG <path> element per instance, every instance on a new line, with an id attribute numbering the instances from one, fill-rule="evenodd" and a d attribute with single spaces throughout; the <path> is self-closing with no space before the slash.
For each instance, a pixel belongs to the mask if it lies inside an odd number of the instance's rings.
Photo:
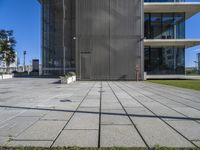
<path id="1" fill-rule="evenodd" d="M 15 140 L 54 140 L 66 121 L 38 121 Z"/>

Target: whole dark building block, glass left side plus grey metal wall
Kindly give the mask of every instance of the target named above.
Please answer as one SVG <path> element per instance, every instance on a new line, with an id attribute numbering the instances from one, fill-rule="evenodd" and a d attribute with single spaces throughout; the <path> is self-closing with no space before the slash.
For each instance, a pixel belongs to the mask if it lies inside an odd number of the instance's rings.
<path id="1" fill-rule="evenodd" d="M 136 64 L 142 67 L 142 4 L 43 0 L 43 73 L 60 75 L 76 67 L 84 79 L 90 59 L 91 80 L 135 79 Z"/>

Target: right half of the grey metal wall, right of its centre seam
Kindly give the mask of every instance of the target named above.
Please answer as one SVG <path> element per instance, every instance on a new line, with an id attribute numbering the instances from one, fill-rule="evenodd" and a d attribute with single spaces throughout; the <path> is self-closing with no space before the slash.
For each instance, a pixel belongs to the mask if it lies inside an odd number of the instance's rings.
<path id="1" fill-rule="evenodd" d="M 141 0 L 110 0 L 110 78 L 135 79 L 141 66 Z"/>

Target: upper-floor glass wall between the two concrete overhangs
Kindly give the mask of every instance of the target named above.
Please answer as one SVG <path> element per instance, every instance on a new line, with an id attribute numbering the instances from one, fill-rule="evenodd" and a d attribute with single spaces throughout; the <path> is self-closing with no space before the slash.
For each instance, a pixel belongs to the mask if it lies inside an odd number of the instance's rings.
<path id="1" fill-rule="evenodd" d="M 147 39 L 184 39 L 185 13 L 145 13 Z"/>

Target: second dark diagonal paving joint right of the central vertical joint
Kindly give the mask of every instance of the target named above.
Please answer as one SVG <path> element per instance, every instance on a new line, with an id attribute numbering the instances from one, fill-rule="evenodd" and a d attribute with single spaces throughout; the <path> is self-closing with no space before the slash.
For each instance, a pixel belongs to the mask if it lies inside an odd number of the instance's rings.
<path id="1" fill-rule="evenodd" d="M 119 87 L 119 85 L 117 85 L 116 83 L 114 83 L 117 87 Z M 147 110 L 149 110 L 151 113 L 153 113 L 158 119 L 160 119 L 161 121 L 163 121 L 166 125 L 168 125 L 171 129 L 173 129 L 175 132 L 177 132 L 179 135 L 181 135 L 184 139 L 186 139 L 188 142 L 190 142 L 192 145 L 194 145 L 195 147 L 199 148 L 195 143 L 193 143 L 191 140 L 189 140 L 186 136 L 184 136 L 182 133 L 180 133 L 178 130 L 176 130 L 173 126 L 171 126 L 169 123 L 167 123 L 164 119 L 162 119 L 160 116 L 158 116 L 156 113 L 154 113 L 151 109 L 149 109 L 146 105 L 144 105 L 142 102 L 140 102 L 139 100 L 137 100 L 135 97 L 133 97 L 129 92 L 127 92 L 126 90 L 124 90 L 123 88 L 119 87 L 121 90 L 123 90 L 125 93 L 127 93 L 130 97 L 132 97 L 132 99 L 136 100 L 138 103 L 140 103 L 143 107 L 145 107 Z M 128 87 L 129 88 L 129 87 Z"/>

